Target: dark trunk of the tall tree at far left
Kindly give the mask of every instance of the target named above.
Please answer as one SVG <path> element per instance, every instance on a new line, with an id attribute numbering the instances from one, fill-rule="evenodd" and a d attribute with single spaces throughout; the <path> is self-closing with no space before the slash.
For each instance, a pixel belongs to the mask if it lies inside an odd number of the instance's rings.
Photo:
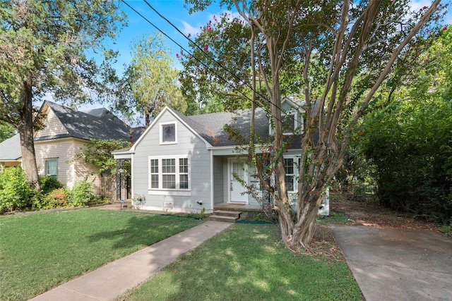
<path id="1" fill-rule="evenodd" d="M 40 190 L 40 182 L 37 176 L 35 141 L 33 137 L 33 108 L 31 79 L 23 83 L 23 102 L 20 110 L 18 131 L 20 134 L 20 151 L 22 152 L 22 166 L 27 175 L 28 183 L 32 188 Z"/>

